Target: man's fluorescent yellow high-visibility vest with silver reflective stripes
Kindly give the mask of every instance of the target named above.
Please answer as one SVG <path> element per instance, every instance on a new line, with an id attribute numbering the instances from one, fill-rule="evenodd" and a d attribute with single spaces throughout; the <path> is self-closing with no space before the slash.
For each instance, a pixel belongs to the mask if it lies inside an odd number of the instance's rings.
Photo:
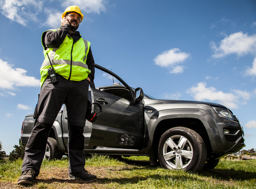
<path id="1" fill-rule="evenodd" d="M 47 31 L 56 30 L 57 29 Z M 45 32 L 42 34 L 42 38 L 44 38 Z M 43 40 L 44 39 L 42 39 L 42 46 L 44 47 Z M 85 80 L 88 74 L 91 73 L 86 65 L 90 44 L 90 42 L 82 39 L 82 37 L 77 42 L 73 43 L 73 38 L 67 35 L 59 47 L 44 48 L 44 62 L 40 69 L 41 86 L 48 77 L 48 68 L 51 67 L 46 52 L 50 57 L 56 74 L 73 81 Z"/>

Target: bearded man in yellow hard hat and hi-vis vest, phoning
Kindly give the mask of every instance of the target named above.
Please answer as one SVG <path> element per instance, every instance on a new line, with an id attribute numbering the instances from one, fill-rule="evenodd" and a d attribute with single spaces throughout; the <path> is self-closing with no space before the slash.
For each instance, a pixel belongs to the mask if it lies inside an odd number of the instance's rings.
<path id="1" fill-rule="evenodd" d="M 83 127 L 89 83 L 94 80 L 94 59 L 90 42 L 76 31 L 82 20 L 80 8 L 70 6 L 62 14 L 61 27 L 42 34 L 45 60 L 40 69 L 41 91 L 35 110 L 35 127 L 26 145 L 18 184 L 32 184 L 38 176 L 47 138 L 62 104 L 66 105 L 68 113 L 69 178 L 87 182 L 97 178 L 84 168 Z M 49 78 L 49 59 L 57 83 L 52 83 Z"/>

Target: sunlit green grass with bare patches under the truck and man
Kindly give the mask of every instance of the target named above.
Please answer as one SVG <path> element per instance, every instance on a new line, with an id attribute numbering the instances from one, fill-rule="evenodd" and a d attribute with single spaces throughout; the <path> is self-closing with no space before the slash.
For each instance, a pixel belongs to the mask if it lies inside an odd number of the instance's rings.
<path id="1" fill-rule="evenodd" d="M 83 183 L 68 180 L 68 158 L 43 161 L 35 184 L 18 186 L 22 160 L 0 164 L 0 188 L 39 189 L 251 189 L 256 188 L 256 160 L 221 160 L 211 171 L 193 174 L 184 171 L 150 166 L 148 157 L 122 157 L 92 155 L 86 157 L 85 169 L 97 175 L 97 181 Z"/>

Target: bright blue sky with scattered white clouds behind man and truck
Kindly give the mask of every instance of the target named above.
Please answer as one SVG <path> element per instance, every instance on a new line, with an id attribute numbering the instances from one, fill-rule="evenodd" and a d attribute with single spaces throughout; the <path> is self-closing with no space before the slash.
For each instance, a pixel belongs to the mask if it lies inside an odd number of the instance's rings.
<path id="1" fill-rule="evenodd" d="M 71 5 L 95 63 L 156 99 L 204 101 L 232 110 L 256 148 L 255 0 L 0 0 L 0 141 L 18 145 L 40 92 L 42 32 Z M 112 78 L 95 72 L 95 86 Z"/>

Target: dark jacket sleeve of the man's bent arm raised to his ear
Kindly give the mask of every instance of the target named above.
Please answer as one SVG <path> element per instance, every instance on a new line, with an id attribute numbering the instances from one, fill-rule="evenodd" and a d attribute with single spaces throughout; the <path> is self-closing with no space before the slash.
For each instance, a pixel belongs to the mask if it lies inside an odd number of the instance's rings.
<path id="1" fill-rule="evenodd" d="M 44 44 L 46 48 L 56 48 L 61 45 L 65 37 L 69 33 L 70 25 L 65 24 L 57 31 L 47 31 L 44 37 Z"/>

